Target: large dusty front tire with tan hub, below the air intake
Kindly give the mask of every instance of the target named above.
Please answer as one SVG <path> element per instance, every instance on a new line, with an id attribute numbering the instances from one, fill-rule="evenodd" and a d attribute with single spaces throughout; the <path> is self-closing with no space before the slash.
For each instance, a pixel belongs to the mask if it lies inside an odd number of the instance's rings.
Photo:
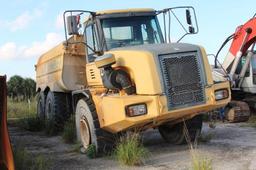
<path id="1" fill-rule="evenodd" d="M 114 135 L 100 128 L 98 115 L 91 99 L 82 98 L 76 105 L 77 140 L 83 150 L 89 145 L 96 146 L 97 153 L 106 153 L 113 149 Z"/>

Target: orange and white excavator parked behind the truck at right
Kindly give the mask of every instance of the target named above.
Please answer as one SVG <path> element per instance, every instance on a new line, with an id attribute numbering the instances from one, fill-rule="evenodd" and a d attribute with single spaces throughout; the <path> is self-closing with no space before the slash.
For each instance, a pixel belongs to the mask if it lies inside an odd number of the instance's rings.
<path id="1" fill-rule="evenodd" d="M 217 57 L 223 47 L 232 40 L 223 64 Z M 232 101 L 225 109 L 230 122 L 247 121 L 256 109 L 256 14 L 237 27 L 222 44 L 215 56 L 214 81 L 229 80 Z"/>

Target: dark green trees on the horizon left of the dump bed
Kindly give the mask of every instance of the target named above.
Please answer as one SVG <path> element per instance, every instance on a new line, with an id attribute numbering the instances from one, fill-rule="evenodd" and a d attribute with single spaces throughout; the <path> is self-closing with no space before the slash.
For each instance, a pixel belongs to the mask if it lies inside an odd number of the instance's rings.
<path id="1" fill-rule="evenodd" d="M 28 100 L 36 95 L 36 82 L 31 78 L 12 76 L 7 81 L 8 96 L 13 100 Z"/>

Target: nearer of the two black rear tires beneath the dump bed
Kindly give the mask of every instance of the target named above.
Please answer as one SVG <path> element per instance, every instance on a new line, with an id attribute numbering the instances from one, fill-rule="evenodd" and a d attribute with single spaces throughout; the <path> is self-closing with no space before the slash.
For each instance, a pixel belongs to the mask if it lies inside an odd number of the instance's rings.
<path id="1" fill-rule="evenodd" d="M 54 124 L 57 131 L 63 129 L 70 116 L 68 94 L 49 91 L 45 103 L 45 118 Z"/>

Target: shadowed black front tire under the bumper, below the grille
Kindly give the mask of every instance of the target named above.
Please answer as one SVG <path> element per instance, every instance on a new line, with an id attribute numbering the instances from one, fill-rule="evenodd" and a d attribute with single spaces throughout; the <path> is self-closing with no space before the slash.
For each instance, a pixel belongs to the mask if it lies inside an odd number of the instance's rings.
<path id="1" fill-rule="evenodd" d="M 202 130 L 202 116 L 195 116 L 192 119 L 186 120 L 185 123 L 189 133 L 189 142 L 194 142 L 196 138 L 200 135 Z M 168 143 L 180 145 L 187 142 L 185 136 L 184 122 L 180 122 L 174 125 L 166 123 L 159 126 L 158 130 L 163 139 Z"/>

